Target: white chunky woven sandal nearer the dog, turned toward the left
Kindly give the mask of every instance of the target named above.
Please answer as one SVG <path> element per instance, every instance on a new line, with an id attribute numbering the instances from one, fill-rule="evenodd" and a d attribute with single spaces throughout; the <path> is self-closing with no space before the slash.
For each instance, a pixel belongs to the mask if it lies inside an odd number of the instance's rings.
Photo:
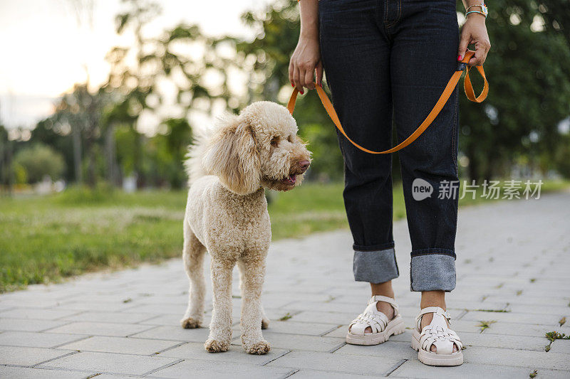
<path id="1" fill-rule="evenodd" d="M 385 301 L 394 309 L 394 317 L 388 320 L 388 316 L 378 311 L 376 303 Z M 371 333 L 366 333 L 366 328 L 372 329 Z M 391 297 L 376 295 L 368 301 L 368 306 L 356 319 L 348 326 L 346 343 L 351 345 L 378 345 L 388 341 L 393 334 L 404 332 L 404 321 L 398 313 L 398 304 Z"/>

